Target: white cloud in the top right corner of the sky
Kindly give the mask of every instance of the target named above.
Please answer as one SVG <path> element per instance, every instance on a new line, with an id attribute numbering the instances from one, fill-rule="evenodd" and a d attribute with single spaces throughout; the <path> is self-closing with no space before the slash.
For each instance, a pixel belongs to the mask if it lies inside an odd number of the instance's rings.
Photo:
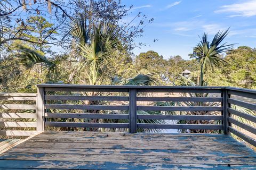
<path id="1" fill-rule="evenodd" d="M 256 15 L 256 1 L 250 0 L 241 4 L 231 4 L 220 6 L 220 10 L 214 11 L 215 13 L 234 13 L 230 17 L 235 16 L 254 16 Z"/>

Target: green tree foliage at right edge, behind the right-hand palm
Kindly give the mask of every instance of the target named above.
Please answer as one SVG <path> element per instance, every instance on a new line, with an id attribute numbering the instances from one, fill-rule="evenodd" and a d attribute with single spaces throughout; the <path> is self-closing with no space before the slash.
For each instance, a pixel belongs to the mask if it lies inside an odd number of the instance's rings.
<path id="1" fill-rule="evenodd" d="M 209 86 L 233 86 L 256 89 L 256 49 L 241 46 L 225 56 L 228 65 L 206 73 Z"/>

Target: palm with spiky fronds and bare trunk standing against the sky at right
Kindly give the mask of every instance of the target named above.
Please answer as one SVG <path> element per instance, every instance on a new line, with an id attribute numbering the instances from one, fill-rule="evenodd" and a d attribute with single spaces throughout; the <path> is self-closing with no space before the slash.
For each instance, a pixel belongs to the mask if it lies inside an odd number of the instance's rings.
<path id="1" fill-rule="evenodd" d="M 220 67 L 221 63 L 227 63 L 221 57 L 221 53 L 228 52 L 235 44 L 222 43 L 227 37 L 229 29 L 226 31 L 218 31 L 212 42 L 208 41 L 207 33 L 203 33 L 201 41 L 194 47 L 193 56 L 201 64 L 199 86 L 204 86 L 204 74 L 207 69 L 212 69 L 214 66 Z"/>

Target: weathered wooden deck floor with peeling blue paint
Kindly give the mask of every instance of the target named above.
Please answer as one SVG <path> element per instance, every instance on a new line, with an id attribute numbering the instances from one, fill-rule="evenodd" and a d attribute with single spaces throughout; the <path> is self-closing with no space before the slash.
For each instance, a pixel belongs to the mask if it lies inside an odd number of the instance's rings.
<path id="1" fill-rule="evenodd" d="M 255 169 L 223 134 L 45 131 L 0 155 L 0 169 Z"/>

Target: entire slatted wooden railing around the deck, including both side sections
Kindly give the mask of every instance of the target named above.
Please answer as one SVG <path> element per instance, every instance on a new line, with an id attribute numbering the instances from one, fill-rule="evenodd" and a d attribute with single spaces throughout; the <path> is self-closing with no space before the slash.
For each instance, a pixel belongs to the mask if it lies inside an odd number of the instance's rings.
<path id="1" fill-rule="evenodd" d="M 230 87 L 83 86 L 67 84 L 38 84 L 37 87 L 36 107 L 31 105 L 23 108 L 23 106 L 17 105 L 17 107 L 9 108 L 32 109 L 33 107 L 37 113 L 37 116 L 33 115 L 33 118 L 37 118 L 37 123 L 25 123 L 22 125 L 27 127 L 36 125 L 37 131 L 44 131 L 45 128 L 53 127 L 124 129 L 126 131 L 129 130 L 131 133 L 135 133 L 140 129 L 203 130 L 203 132 L 205 130 L 205 132 L 233 133 L 256 146 L 255 139 L 246 135 L 244 131 L 237 129 L 238 126 L 255 135 L 255 126 L 241 122 L 237 117 L 242 117 L 252 123 L 256 123 L 256 117 L 243 113 L 237 110 L 237 107 L 232 106 L 236 105 L 251 109 L 255 113 L 256 105 L 253 102 L 256 99 L 256 90 Z M 189 93 L 197 95 L 191 95 L 190 97 L 159 97 L 154 95 L 155 93 Z M 35 100 L 36 94 L 33 95 L 33 100 Z M 237 99 L 237 96 L 242 97 L 242 99 Z M 25 99 L 24 97 L 26 96 L 22 96 L 19 99 Z M 2 97 L 0 99 L 6 98 Z M 16 98 L 13 99 L 15 100 Z M 252 99 L 252 102 L 244 99 Z M 161 101 L 173 101 L 181 103 L 181 105 L 145 104 Z M 184 105 L 186 103 L 194 103 L 195 105 Z M 217 105 L 204 105 L 205 103 L 217 103 Z M 6 105 L 1 106 L 4 109 L 7 108 Z M 106 112 L 103 113 L 102 111 Z M 171 113 L 175 111 L 189 114 L 143 114 L 146 111 L 152 113 Z M 6 114 L 1 115 L 3 117 Z M 21 115 L 19 114 L 19 116 Z M 11 114 L 11 116 L 9 114 L 9 117 L 15 118 L 13 116 L 17 116 L 17 114 Z M 108 121 L 105 121 L 107 123 L 98 123 L 99 121 L 64 122 L 64 118 L 66 120 L 77 118 L 78 120 Z M 147 120 L 157 120 L 158 123 L 148 123 Z M 163 120 L 196 121 L 197 123 L 165 124 Z M 208 122 L 209 124 L 201 124 L 200 121 Z M 19 122 L 16 123 L 18 126 Z M 6 126 L 7 124 L 5 123 L 4 125 Z M 4 132 L 2 131 L 1 134 L 4 134 Z M 19 135 L 21 133 L 6 131 L 5 134 Z"/>

